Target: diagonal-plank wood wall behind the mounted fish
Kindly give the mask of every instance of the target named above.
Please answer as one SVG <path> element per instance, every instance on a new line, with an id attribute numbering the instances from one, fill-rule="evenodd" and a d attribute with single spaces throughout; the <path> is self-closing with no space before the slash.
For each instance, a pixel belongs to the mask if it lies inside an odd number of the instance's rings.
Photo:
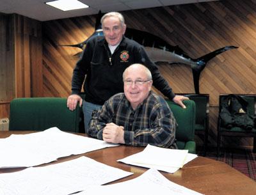
<path id="1" fill-rule="evenodd" d="M 200 76 L 200 93 L 210 95 L 209 141 L 216 145 L 219 95 L 256 93 L 256 1 L 212 1 L 122 13 L 127 27 L 148 31 L 171 45 L 179 45 L 191 58 L 227 45 L 239 47 L 211 59 Z M 81 50 L 60 45 L 86 40 L 94 31 L 95 18 L 92 15 L 43 23 L 45 96 L 70 94 L 72 69 Z M 159 63 L 159 70 L 175 93 L 195 93 L 188 66 Z M 202 143 L 200 139 L 197 142 Z M 252 145 L 250 138 L 241 142 L 244 146 Z"/>

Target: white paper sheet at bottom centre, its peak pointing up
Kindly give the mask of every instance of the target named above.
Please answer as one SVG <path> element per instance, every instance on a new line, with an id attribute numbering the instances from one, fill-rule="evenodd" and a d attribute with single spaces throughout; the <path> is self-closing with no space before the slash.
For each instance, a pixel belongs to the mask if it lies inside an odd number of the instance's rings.
<path id="1" fill-rule="evenodd" d="M 111 195 L 131 195 L 131 194 L 175 194 L 175 195 L 202 195 L 192 191 L 182 185 L 173 183 L 165 178 L 156 169 L 149 169 L 143 175 L 126 182 L 111 185 L 93 186 L 77 195 L 91 194 L 111 194 Z"/>

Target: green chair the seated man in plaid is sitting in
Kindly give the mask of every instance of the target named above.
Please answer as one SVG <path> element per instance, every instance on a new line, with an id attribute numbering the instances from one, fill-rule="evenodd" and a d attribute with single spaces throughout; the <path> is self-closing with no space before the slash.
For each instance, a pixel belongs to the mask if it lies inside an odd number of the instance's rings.
<path id="1" fill-rule="evenodd" d="M 189 153 L 196 153 L 195 119 L 196 105 L 193 100 L 185 100 L 186 109 L 180 107 L 170 100 L 166 100 L 178 123 L 176 131 L 177 146 L 180 150 L 189 150 Z"/>

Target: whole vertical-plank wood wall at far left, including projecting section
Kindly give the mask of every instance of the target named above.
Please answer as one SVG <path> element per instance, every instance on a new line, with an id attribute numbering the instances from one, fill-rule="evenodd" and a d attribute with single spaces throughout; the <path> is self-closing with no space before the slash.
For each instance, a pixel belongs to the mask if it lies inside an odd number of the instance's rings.
<path id="1" fill-rule="evenodd" d="M 0 14 L 0 118 L 15 97 L 42 97 L 42 23 Z"/>

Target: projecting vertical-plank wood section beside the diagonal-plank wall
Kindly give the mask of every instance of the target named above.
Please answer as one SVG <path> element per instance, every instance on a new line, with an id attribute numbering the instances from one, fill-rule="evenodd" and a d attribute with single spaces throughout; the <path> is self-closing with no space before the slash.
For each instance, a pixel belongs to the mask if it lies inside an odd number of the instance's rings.
<path id="1" fill-rule="evenodd" d="M 42 23 L 13 15 L 16 97 L 42 97 Z"/>

